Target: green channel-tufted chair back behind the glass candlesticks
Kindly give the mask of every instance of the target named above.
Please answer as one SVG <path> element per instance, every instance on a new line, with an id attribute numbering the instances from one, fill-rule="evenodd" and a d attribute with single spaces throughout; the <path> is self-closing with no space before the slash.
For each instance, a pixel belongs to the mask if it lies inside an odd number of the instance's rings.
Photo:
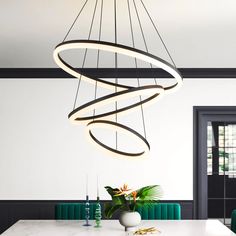
<path id="1" fill-rule="evenodd" d="M 90 219 L 95 219 L 96 203 L 89 204 Z M 82 220 L 85 219 L 85 203 L 59 203 L 55 206 L 55 219 Z"/>

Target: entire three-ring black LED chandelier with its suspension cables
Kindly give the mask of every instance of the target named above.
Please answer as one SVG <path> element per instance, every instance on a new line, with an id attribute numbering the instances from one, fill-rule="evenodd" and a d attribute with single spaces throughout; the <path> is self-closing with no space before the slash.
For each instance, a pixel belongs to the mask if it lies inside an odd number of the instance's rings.
<path id="1" fill-rule="evenodd" d="M 97 144 L 99 147 L 103 148 L 104 150 L 109 151 L 110 153 L 119 155 L 119 156 L 125 156 L 125 157 L 143 157 L 145 156 L 149 150 L 150 150 L 150 145 L 146 140 L 146 128 L 145 128 L 145 120 L 144 120 L 144 113 L 143 113 L 143 105 L 150 104 L 151 101 L 154 101 L 156 99 L 159 99 L 162 97 L 163 94 L 168 94 L 172 91 L 177 90 L 179 87 L 181 87 L 183 80 L 181 77 L 180 72 L 176 68 L 176 65 L 174 63 L 173 58 L 171 57 L 169 50 L 167 49 L 164 40 L 162 39 L 158 28 L 156 27 L 151 15 L 149 14 L 147 8 L 145 7 L 145 4 L 141 0 L 141 6 L 143 8 L 143 12 L 146 14 L 148 19 L 150 20 L 151 25 L 153 26 L 155 32 L 157 33 L 158 38 L 161 40 L 165 51 L 167 52 L 172 64 L 169 62 L 151 54 L 149 52 L 148 46 L 147 46 L 147 41 L 146 37 L 144 35 L 144 30 L 143 26 L 141 23 L 141 18 L 139 14 L 139 10 L 136 5 L 136 1 L 133 0 L 133 7 L 134 7 L 134 14 L 132 14 L 132 11 L 130 9 L 130 1 L 127 0 L 127 9 L 128 9 L 128 14 L 129 14 L 129 27 L 131 31 L 131 37 L 132 37 L 132 45 L 133 47 L 118 44 L 117 42 L 117 35 L 118 35 L 118 28 L 117 28 L 117 0 L 114 0 L 114 14 L 112 15 L 112 18 L 114 17 L 114 43 L 113 42 L 107 42 L 107 41 L 101 41 L 101 36 L 102 36 L 102 23 L 104 22 L 103 20 L 103 0 L 101 0 L 101 8 L 99 11 L 99 21 L 96 21 L 97 19 L 95 16 L 98 14 L 97 9 L 98 9 L 98 0 L 95 1 L 94 7 L 86 7 L 88 0 L 85 0 L 84 4 L 82 4 L 82 7 L 80 11 L 78 12 L 75 20 L 73 21 L 72 25 L 70 26 L 68 32 L 66 33 L 62 43 L 58 44 L 54 50 L 53 57 L 56 62 L 56 64 L 61 67 L 64 71 L 72 75 L 73 77 L 76 77 L 79 79 L 78 82 L 78 87 L 76 90 L 76 96 L 75 96 L 75 101 L 74 101 L 74 108 L 73 111 L 68 115 L 68 118 L 75 123 L 80 123 L 80 122 L 86 122 L 87 123 L 87 134 L 89 135 L 90 139 Z M 123 3 L 122 3 L 123 4 Z M 69 40 L 66 41 L 69 33 L 71 32 L 72 28 L 75 26 L 75 23 L 77 22 L 78 18 L 84 12 L 84 9 L 93 9 L 93 12 L 91 14 L 91 19 L 89 17 L 89 21 L 91 22 L 90 27 L 89 27 L 89 32 L 88 32 L 88 37 L 87 39 L 80 39 L 80 40 Z M 110 11 L 110 9 L 109 9 Z M 86 15 L 89 15 L 86 13 Z M 142 33 L 142 40 L 145 45 L 146 51 L 140 50 L 135 48 L 135 39 L 134 39 L 134 32 L 133 29 L 135 29 L 134 21 L 132 21 L 132 15 L 134 15 L 137 18 L 138 22 L 138 28 L 140 32 Z M 123 17 L 123 16 L 122 16 Z M 94 22 L 98 22 L 99 24 L 99 32 L 98 32 L 98 39 L 99 40 L 92 40 L 91 35 L 94 33 Z M 108 26 L 113 26 L 113 24 L 107 24 L 108 21 L 106 21 L 106 27 Z M 84 24 L 84 21 L 82 22 Z M 83 36 L 84 37 L 84 36 Z M 75 49 L 82 49 L 85 50 L 84 57 L 83 57 L 83 63 L 80 68 L 73 67 L 69 62 L 67 62 L 66 59 L 62 57 L 62 53 L 65 51 L 69 50 L 75 50 Z M 150 68 L 160 68 L 167 73 L 169 73 L 173 78 L 171 80 L 171 84 L 165 84 L 163 86 L 157 85 L 156 78 L 154 78 L 155 85 L 145 85 L 145 86 L 140 86 L 140 81 L 139 77 L 137 76 L 137 82 L 138 86 L 130 86 L 128 84 L 125 84 L 125 80 L 119 80 L 117 77 L 114 77 L 115 82 L 107 81 L 102 78 L 98 78 L 98 76 L 90 76 L 87 75 L 83 69 L 85 65 L 85 60 L 87 56 L 87 50 L 96 50 L 97 51 L 97 68 L 99 67 L 99 55 L 100 51 L 103 52 L 111 52 L 114 53 L 114 58 L 115 58 L 115 63 L 114 63 L 114 68 L 118 68 L 118 62 L 117 62 L 117 55 L 125 55 L 128 56 L 132 59 L 135 60 L 135 67 L 132 68 L 133 71 L 135 72 L 135 69 L 138 67 L 137 66 L 137 60 L 143 61 L 145 63 L 150 64 Z M 147 68 L 148 70 L 148 68 Z M 161 78 L 160 78 L 161 79 Z M 76 108 L 76 101 L 77 101 L 77 95 L 80 87 L 80 82 L 81 80 L 87 81 L 89 83 L 92 83 L 95 85 L 95 94 L 94 97 L 95 99 L 93 101 L 87 102 L 83 105 L 80 105 L 79 107 Z M 112 92 L 109 95 L 102 96 L 97 98 L 97 86 L 100 87 L 105 87 L 110 89 Z M 115 89 L 115 92 L 114 92 Z M 129 104 L 126 103 L 126 105 L 120 105 L 119 103 L 119 108 L 117 105 L 117 102 L 120 102 L 121 100 L 124 99 L 130 99 L 134 97 L 139 97 L 139 101 L 131 101 Z M 125 100 L 127 101 L 127 100 Z M 115 103 L 115 109 L 111 108 L 109 111 L 103 111 L 103 110 L 98 110 L 99 108 L 103 108 L 105 105 L 110 105 L 111 103 Z M 137 133 L 135 130 L 120 124 L 117 122 L 117 114 L 119 113 L 124 113 L 127 111 L 134 110 L 136 107 L 140 106 L 141 107 L 141 115 L 142 115 L 142 120 L 143 120 L 143 129 L 144 129 L 144 137 Z M 96 110 L 96 114 L 95 114 Z M 91 115 L 91 112 L 93 112 L 93 115 Z M 114 115 L 115 114 L 115 119 L 116 122 L 114 121 L 109 121 L 109 120 L 104 120 L 103 118 L 107 118 L 108 116 Z M 100 120 L 102 118 L 102 120 Z M 89 123 L 88 123 L 89 122 Z M 116 148 L 111 147 L 110 145 L 107 145 L 106 142 L 101 141 L 98 138 L 98 135 L 96 132 L 94 132 L 97 128 L 102 127 L 103 129 L 113 129 L 116 131 Z M 138 149 L 141 151 L 123 151 L 121 148 L 118 148 L 117 145 L 117 133 L 125 133 L 126 135 L 131 135 L 131 138 L 133 138 L 136 141 L 136 144 L 138 145 Z"/>

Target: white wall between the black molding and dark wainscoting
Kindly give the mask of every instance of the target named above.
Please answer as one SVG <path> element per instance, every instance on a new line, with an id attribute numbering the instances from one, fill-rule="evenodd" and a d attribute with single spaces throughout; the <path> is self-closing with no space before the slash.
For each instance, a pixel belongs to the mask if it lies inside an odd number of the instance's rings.
<path id="1" fill-rule="evenodd" d="M 160 184 L 163 199 L 193 199 L 193 106 L 235 105 L 236 80 L 185 80 L 145 109 L 151 152 L 139 161 L 103 154 L 83 126 L 70 124 L 76 84 L 0 80 L 0 199 L 84 199 L 87 173 L 91 198 L 99 175 L 102 199 L 109 198 L 103 186 L 123 183 Z"/>

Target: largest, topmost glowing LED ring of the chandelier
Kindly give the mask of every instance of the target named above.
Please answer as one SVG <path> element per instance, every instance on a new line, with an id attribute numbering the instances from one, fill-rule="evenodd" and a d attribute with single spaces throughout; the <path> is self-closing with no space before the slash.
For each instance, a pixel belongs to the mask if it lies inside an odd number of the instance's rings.
<path id="1" fill-rule="evenodd" d="M 69 64 L 67 64 L 62 57 L 59 55 L 60 52 L 70 50 L 70 49 L 96 49 L 96 50 L 103 50 L 108 52 L 114 52 L 118 54 L 123 54 L 126 56 L 130 56 L 136 59 L 143 60 L 147 63 L 151 63 L 154 66 L 157 66 L 158 68 L 161 68 L 171 74 L 175 79 L 176 83 L 174 83 L 171 86 L 164 87 L 164 90 L 166 92 L 170 92 L 173 90 L 176 90 L 182 85 L 182 77 L 179 73 L 179 71 L 173 67 L 170 63 L 164 61 L 163 59 L 154 56 L 150 53 L 144 52 L 142 50 L 128 47 L 122 44 L 115 44 L 111 42 L 104 42 L 104 41 L 97 41 L 97 40 L 71 40 L 66 41 L 61 44 L 58 44 L 53 52 L 53 57 L 55 62 L 59 67 L 61 67 L 64 71 L 68 72 L 69 74 L 73 75 L 74 77 L 80 78 L 90 82 L 95 83 L 96 81 L 100 82 L 99 86 L 105 86 L 109 89 L 114 89 L 114 86 L 118 88 L 118 90 L 124 90 L 131 88 L 130 86 L 121 84 L 121 83 L 112 83 L 109 81 L 105 81 L 98 78 L 89 78 L 82 74 L 80 69 L 75 69 Z M 82 75 L 82 76 L 81 76 Z"/>

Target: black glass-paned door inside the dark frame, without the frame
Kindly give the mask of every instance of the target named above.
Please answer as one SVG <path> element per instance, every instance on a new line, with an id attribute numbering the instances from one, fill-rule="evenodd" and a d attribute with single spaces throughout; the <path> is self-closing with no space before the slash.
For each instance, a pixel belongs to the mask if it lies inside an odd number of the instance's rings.
<path id="1" fill-rule="evenodd" d="M 208 218 L 230 223 L 236 208 L 236 123 L 207 125 Z"/>

